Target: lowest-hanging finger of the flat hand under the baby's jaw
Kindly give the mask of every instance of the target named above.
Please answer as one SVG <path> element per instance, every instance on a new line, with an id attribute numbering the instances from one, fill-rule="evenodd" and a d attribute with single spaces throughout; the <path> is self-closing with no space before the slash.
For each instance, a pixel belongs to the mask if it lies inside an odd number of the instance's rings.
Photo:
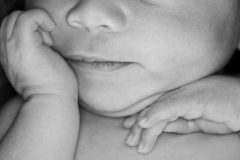
<path id="1" fill-rule="evenodd" d="M 151 128 L 143 129 L 137 151 L 143 154 L 150 152 L 167 123 L 167 121 L 162 121 Z"/>

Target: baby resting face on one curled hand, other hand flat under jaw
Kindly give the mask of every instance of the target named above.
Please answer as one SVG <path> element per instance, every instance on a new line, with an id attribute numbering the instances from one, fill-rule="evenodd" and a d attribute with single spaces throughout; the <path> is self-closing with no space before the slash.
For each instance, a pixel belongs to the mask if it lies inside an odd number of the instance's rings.
<path id="1" fill-rule="evenodd" d="M 238 0 L 26 0 L 27 11 L 1 24 L 1 64 L 24 103 L 0 159 L 13 151 L 19 159 L 73 159 L 78 103 L 130 116 L 126 143 L 140 153 L 162 132 L 239 131 L 239 77 L 216 75 L 238 47 L 239 7 Z"/>

